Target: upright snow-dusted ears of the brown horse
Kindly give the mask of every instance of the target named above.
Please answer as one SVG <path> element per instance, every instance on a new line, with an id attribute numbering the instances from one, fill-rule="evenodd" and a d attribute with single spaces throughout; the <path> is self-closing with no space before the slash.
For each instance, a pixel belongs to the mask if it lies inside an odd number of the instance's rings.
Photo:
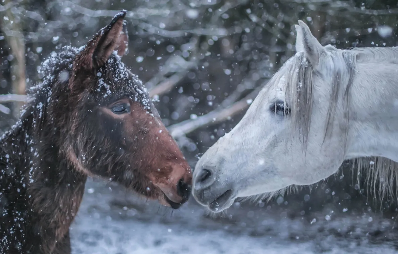
<path id="1" fill-rule="evenodd" d="M 100 29 L 94 37 L 88 41 L 83 51 L 76 57 L 76 64 L 87 70 L 102 67 L 113 51 L 121 57 L 128 51 L 129 35 L 124 20 L 127 14 L 122 10 L 115 15 L 109 25 Z"/>

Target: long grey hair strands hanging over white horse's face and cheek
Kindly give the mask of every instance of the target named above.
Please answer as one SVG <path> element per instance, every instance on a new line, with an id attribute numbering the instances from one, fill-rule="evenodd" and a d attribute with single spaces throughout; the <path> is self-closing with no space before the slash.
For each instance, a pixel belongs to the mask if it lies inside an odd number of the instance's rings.
<path id="1" fill-rule="evenodd" d="M 297 52 L 273 77 L 276 83 L 285 83 L 285 103 L 287 102 L 291 108 L 291 129 L 294 130 L 291 133 L 294 135 L 298 131 L 298 137 L 304 150 L 308 144 L 314 100 L 319 99 L 314 98 L 314 78 L 316 76 L 330 80 L 330 86 L 325 88 L 330 90 L 330 98 L 328 98 L 329 106 L 324 138 L 331 131 L 342 87 L 345 88 L 345 104 L 343 106 L 345 110 L 349 109 L 349 89 L 356 73 L 357 54 L 332 46 L 325 47 L 325 50 L 328 57 L 321 65 L 322 69 L 314 69 L 304 57 L 304 52 Z M 275 82 L 270 83 L 275 84 Z"/>

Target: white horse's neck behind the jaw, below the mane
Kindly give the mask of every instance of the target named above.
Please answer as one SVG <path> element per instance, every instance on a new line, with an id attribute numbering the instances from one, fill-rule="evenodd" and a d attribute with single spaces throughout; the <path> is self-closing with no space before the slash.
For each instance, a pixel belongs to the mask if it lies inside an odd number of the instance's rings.
<path id="1" fill-rule="evenodd" d="M 382 156 L 398 162 L 397 70 L 396 61 L 357 64 L 349 92 L 347 159 Z"/>

